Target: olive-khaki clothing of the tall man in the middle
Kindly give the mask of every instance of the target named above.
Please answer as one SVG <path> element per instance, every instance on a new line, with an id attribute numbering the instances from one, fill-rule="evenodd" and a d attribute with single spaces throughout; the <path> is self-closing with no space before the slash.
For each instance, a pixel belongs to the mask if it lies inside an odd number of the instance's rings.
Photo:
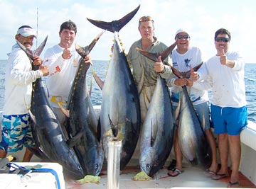
<path id="1" fill-rule="evenodd" d="M 132 66 L 132 74 L 139 91 L 141 117 L 142 122 L 144 122 L 149 103 L 154 93 L 154 88 L 156 87 L 158 73 L 154 71 L 155 62 L 144 57 L 144 55 L 140 54 L 136 48 L 142 49 L 142 40 L 138 40 L 132 44 L 127 55 L 127 60 Z M 163 42 L 159 42 L 159 40 L 155 38 L 155 41 L 146 49 L 146 51 L 153 53 L 161 52 L 166 50 L 166 48 L 167 46 Z M 171 57 L 166 57 L 164 62 L 168 62 L 172 65 Z M 171 67 L 168 65 L 164 65 L 164 67 L 165 71 L 160 75 L 162 78 L 168 79 L 172 74 Z"/>

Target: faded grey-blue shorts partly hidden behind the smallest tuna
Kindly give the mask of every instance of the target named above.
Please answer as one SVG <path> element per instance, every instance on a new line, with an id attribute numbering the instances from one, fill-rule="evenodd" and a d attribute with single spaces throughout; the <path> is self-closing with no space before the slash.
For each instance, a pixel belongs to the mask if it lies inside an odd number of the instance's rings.
<path id="1" fill-rule="evenodd" d="M 174 110 L 176 110 L 177 106 L 174 106 Z M 198 105 L 193 105 L 193 108 L 196 110 L 196 114 L 198 115 L 199 121 L 202 123 L 203 118 L 205 125 L 202 125 L 203 130 L 210 129 L 210 110 L 208 102 L 201 103 Z"/>

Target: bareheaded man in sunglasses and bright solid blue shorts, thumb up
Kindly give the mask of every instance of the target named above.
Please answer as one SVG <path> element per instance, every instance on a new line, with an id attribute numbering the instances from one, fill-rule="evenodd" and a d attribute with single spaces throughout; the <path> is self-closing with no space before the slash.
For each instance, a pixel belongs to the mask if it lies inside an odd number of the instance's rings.
<path id="1" fill-rule="evenodd" d="M 241 156 L 240 132 L 247 125 L 245 98 L 245 61 L 239 52 L 229 50 L 231 35 L 225 28 L 215 32 L 217 54 L 203 64 L 197 72 L 191 72 L 193 81 L 210 76 L 213 81 L 210 116 L 214 132 L 218 134 L 220 170 L 211 178 L 218 180 L 229 176 L 228 149 L 232 173 L 228 187 L 239 187 L 239 164 Z M 229 146 L 229 148 L 228 148 Z"/>

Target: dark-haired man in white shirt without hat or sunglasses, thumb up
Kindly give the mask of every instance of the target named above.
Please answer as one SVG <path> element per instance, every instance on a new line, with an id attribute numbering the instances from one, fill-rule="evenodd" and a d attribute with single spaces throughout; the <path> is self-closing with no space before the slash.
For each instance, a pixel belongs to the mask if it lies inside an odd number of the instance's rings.
<path id="1" fill-rule="evenodd" d="M 58 102 L 65 107 L 70 88 L 78 70 L 81 58 L 75 50 L 75 36 L 77 26 L 73 21 L 66 21 L 60 25 L 60 43 L 46 50 L 44 64 L 49 67 L 50 74 L 46 79 L 46 86 L 50 95 L 50 103 L 58 115 L 60 123 L 65 122 L 65 115 L 60 110 Z M 92 64 L 90 55 L 84 58 L 86 63 Z"/>

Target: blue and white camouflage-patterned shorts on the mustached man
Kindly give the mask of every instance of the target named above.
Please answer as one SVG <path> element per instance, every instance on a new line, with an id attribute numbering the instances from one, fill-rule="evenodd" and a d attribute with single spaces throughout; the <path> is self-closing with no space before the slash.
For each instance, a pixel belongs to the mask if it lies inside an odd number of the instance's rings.
<path id="1" fill-rule="evenodd" d="M 15 152 L 23 147 L 33 147 L 29 115 L 3 115 L 0 149 Z"/>

